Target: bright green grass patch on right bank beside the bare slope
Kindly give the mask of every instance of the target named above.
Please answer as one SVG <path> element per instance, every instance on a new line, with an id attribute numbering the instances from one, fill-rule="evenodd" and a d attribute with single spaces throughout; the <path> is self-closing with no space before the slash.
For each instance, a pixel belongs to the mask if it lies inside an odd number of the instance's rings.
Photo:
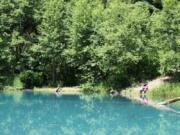
<path id="1" fill-rule="evenodd" d="M 180 83 L 179 82 L 167 82 L 163 85 L 154 88 L 153 90 L 149 91 L 148 95 L 152 99 L 168 99 L 180 96 Z"/>

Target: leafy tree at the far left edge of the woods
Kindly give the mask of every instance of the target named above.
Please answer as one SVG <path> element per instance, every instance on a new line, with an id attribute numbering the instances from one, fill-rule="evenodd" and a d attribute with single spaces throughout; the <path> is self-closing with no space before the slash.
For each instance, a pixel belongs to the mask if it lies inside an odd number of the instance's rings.
<path id="1" fill-rule="evenodd" d="M 26 36 L 23 34 L 25 10 L 29 3 L 27 0 L 6 1 L 0 3 L 1 18 L 1 48 L 2 61 L 5 71 L 14 73 L 19 70 L 21 55 L 28 45 Z"/>

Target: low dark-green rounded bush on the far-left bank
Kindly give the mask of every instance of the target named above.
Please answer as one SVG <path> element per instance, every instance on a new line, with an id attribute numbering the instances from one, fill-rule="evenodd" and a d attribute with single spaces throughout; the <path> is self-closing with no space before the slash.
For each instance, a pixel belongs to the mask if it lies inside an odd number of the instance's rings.
<path id="1" fill-rule="evenodd" d="M 24 88 L 33 88 L 34 86 L 42 86 L 42 73 L 33 71 L 24 71 L 20 74 L 20 79 L 24 84 Z"/>

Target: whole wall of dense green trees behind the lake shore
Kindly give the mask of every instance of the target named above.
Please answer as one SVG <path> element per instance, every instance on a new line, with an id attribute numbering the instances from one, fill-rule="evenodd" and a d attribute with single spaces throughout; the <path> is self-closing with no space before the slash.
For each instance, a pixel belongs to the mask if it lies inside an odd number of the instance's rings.
<path id="1" fill-rule="evenodd" d="M 0 1 L 0 88 L 122 88 L 179 74 L 179 51 L 179 0 Z"/>

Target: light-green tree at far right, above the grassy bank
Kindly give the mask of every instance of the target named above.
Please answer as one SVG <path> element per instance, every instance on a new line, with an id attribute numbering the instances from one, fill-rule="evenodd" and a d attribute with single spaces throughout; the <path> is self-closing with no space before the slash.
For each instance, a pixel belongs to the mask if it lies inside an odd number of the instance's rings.
<path id="1" fill-rule="evenodd" d="M 158 45 L 161 73 L 177 74 L 180 69 L 180 3 L 165 0 L 163 11 L 154 14 L 153 35 Z"/>

